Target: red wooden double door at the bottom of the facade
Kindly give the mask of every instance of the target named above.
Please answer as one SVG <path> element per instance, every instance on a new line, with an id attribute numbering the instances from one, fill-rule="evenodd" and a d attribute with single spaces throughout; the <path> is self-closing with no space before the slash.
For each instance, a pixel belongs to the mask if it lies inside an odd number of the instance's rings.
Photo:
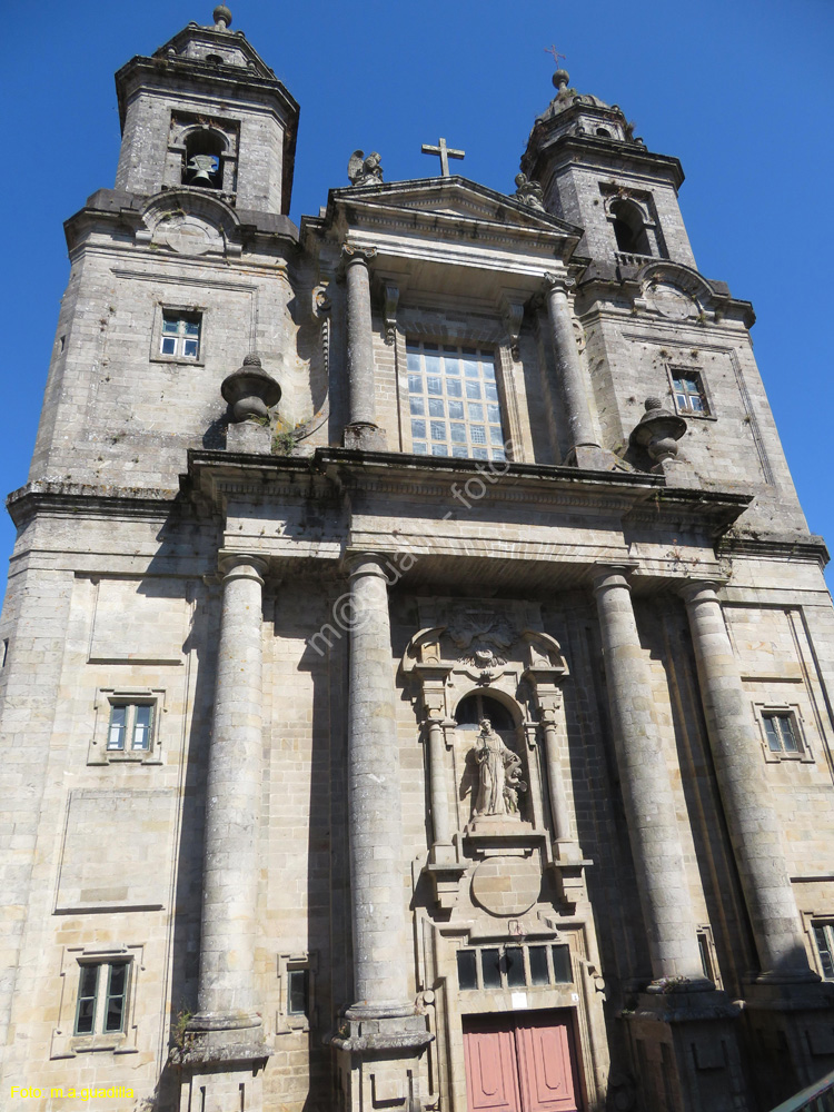
<path id="1" fill-rule="evenodd" d="M 564 1013 L 468 1016 L 464 1058 L 469 1112 L 579 1112 Z"/>

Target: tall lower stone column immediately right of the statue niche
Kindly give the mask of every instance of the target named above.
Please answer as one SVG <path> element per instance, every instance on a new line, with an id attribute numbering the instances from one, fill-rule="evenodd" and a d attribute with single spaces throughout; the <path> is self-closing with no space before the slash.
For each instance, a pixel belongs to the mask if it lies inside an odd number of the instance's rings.
<path id="1" fill-rule="evenodd" d="M 648 666 L 624 568 L 600 569 L 595 594 L 603 636 L 612 729 L 628 838 L 637 874 L 652 974 L 712 987 L 701 964 L 661 732 L 652 714 Z"/>

